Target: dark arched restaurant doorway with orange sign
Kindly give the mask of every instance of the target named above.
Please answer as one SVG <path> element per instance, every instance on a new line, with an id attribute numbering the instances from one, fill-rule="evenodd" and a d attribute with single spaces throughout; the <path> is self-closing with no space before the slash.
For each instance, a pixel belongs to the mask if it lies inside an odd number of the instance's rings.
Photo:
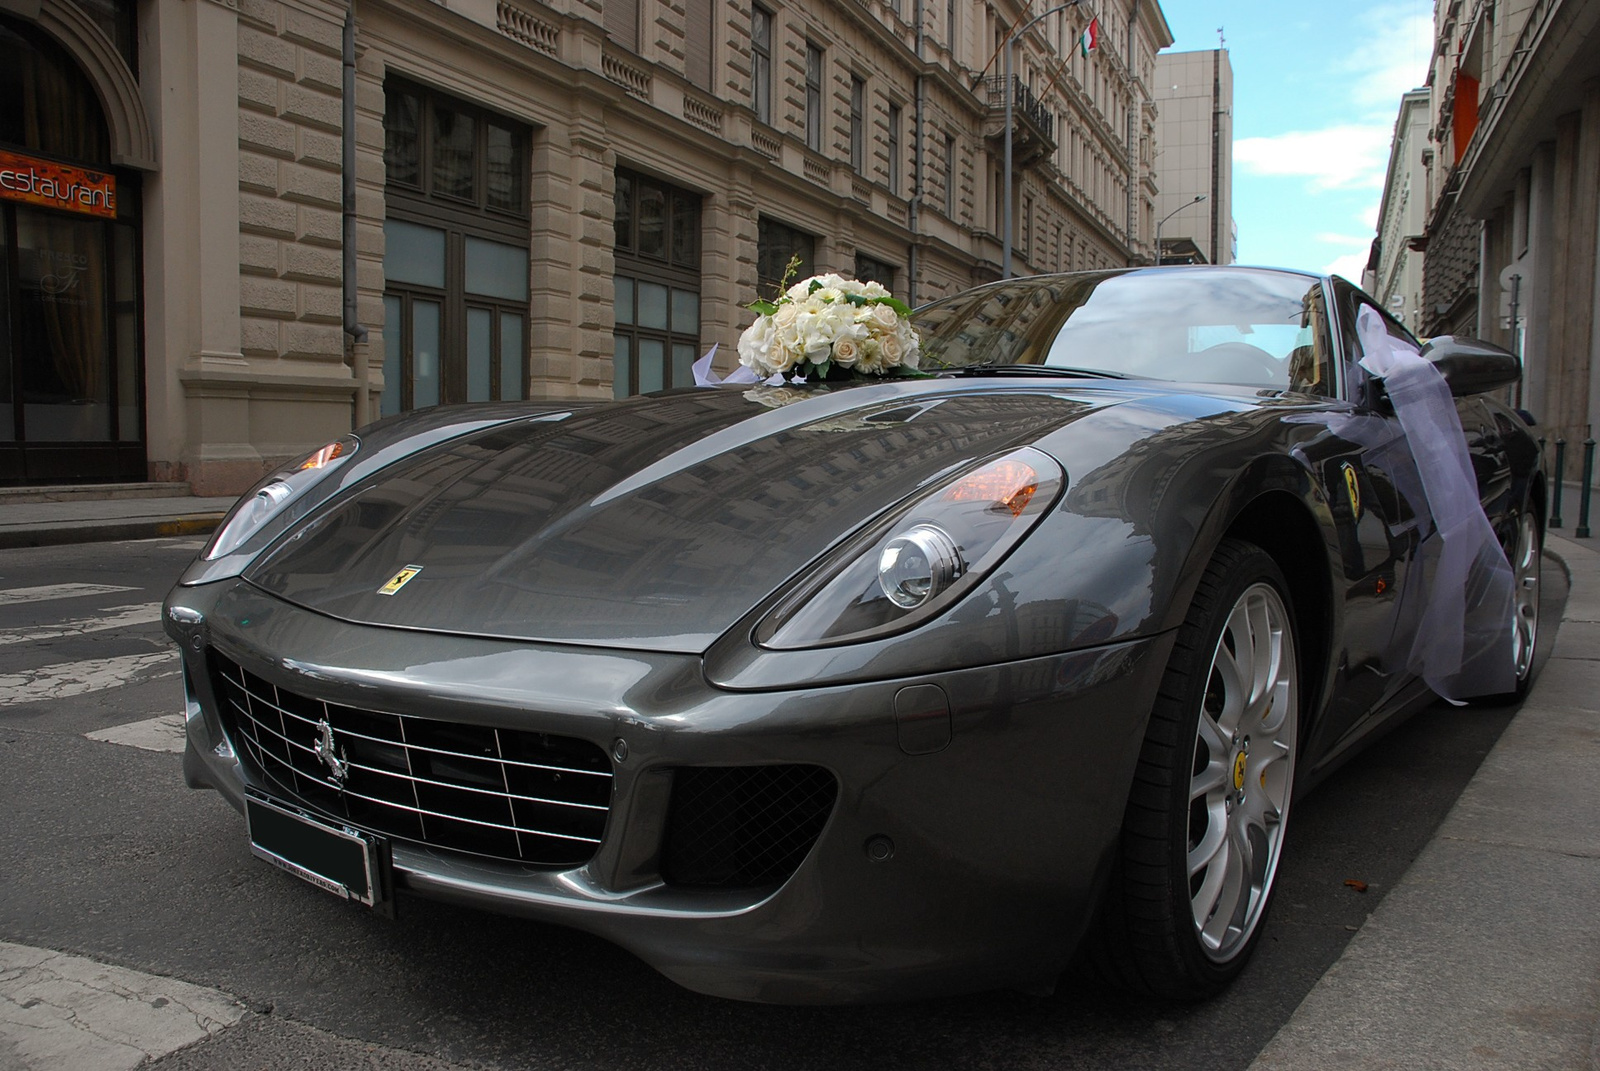
<path id="1" fill-rule="evenodd" d="M 90 80 L 0 16 L 0 482 L 146 477 L 139 176 Z"/>

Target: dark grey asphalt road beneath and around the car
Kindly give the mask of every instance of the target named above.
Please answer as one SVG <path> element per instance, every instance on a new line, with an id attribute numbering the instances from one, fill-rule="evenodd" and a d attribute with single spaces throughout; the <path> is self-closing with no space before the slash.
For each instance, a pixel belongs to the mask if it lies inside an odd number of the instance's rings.
<path id="1" fill-rule="evenodd" d="M 1514 714 L 1430 708 L 1298 802 L 1264 941 L 1208 1004 L 1070 980 L 1051 996 L 733 1004 L 582 933 L 413 898 L 390 922 L 334 901 L 256 861 L 243 820 L 184 788 L 179 756 L 147 749 L 162 746 L 160 722 L 134 736 L 146 746 L 88 736 L 163 716 L 170 727 L 181 711 L 176 653 L 149 610 L 197 548 L 0 552 L 0 941 L 245 1004 L 237 1026 L 149 1065 L 163 1069 L 1245 1068 Z M 45 591 L 6 594 L 18 589 Z M 1552 628 L 1565 596 L 1560 570 L 1546 568 Z"/>

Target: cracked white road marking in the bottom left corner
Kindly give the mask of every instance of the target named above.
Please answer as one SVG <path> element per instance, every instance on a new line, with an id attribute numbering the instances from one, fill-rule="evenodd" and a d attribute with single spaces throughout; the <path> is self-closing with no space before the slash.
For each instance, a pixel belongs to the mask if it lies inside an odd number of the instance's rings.
<path id="1" fill-rule="evenodd" d="M 0 941 L 5 1068 L 130 1071 L 243 1017 L 219 989 Z"/>

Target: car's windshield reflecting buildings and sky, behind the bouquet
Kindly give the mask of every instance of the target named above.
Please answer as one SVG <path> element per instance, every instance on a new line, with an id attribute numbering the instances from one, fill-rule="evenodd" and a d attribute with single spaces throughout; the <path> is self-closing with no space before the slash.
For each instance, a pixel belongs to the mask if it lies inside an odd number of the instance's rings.
<path id="1" fill-rule="evenodd" d="M 915 312 L 925 371 L 1037 365 L 1331 394 L 1322 285 L 1250 267 L 989 283 Z"/>

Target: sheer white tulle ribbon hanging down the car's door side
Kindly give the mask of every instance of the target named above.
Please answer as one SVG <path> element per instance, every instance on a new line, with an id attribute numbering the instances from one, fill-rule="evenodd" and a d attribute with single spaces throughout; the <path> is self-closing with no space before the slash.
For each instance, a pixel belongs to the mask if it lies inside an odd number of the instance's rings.
<path id="1" fill-rule="evenodd" d="M 1514 584 L 1510 562 L 1478 499 L 1472 458 L 1450 384 L 1414 346 L 1397 339 L 1371 307 L 1355 320 L 1362 367 L 1384 381 L 1405 432 L 1432 535 L 1424 533 L 1413 570 L 1421 596 L 1406 668 L 1446 700 L 1510 692 L 1514 668 Z"/>

